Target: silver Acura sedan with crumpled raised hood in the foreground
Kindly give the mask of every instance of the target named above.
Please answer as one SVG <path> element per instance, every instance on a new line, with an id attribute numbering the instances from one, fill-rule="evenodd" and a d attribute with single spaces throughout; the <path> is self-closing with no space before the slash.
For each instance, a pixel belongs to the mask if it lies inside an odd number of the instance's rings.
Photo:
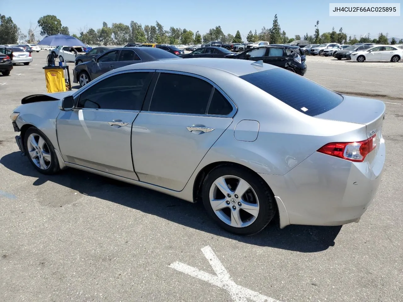
<path id="1" fill-rule="evenodd" d="M 385 160 L 382 101 L 259 61 L 133 64 L 22 103 L 10 117 L 39 172 L 77 168 L 201 201 L 241 235 L 276 213 L 281 228 L 357 221 Z"/>

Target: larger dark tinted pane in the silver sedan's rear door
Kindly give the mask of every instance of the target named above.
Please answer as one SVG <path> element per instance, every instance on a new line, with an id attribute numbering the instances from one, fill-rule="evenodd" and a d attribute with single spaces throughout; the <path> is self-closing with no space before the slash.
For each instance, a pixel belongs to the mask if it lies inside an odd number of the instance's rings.
<path id="1" fill-rule="evenodd" d="M 161 73 L 150 111 L 205 114 L 212 89 L 210 83 L 196 77 Z"/>

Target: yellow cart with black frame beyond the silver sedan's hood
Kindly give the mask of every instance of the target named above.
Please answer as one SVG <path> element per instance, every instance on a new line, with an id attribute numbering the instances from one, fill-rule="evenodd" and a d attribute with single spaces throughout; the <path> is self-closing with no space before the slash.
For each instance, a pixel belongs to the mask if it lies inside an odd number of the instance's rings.
<path id="1" fill-rule="evenodd" d="M 69 66 L 45 66 L 46 90 L 48 93 L 71 90 Z M 67 71 L 67 80 L 64 78 Z"/>

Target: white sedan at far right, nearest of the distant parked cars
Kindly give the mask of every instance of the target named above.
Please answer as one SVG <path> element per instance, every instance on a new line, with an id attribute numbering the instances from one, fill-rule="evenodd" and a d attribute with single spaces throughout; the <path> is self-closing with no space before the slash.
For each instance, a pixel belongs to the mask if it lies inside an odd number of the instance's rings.
<path id="1" fill-rule="evenodd" d="M 377 45 L 367 50 L 353 52 L 351 60 L 364 61 L 391 61 L 399 62 L 403 58 L 403 49 L 391 45 Z"/>

